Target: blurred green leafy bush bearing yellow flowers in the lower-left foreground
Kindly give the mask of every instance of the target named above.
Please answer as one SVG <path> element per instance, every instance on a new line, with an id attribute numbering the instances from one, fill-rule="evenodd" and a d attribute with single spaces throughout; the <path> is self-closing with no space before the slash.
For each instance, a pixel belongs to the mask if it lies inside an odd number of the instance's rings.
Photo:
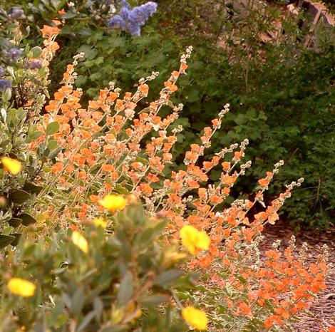
<path id="1" fill-rule="evenodd" d="M 190 289 L 195 276 L 178 267 L 186 255 L 177 246 L 160 245 L 166 222 L 135 205 L 108 222 L 113 234 L 86 227 L 87 252 L 58 228 L 0 256 L 1 331 L 186 331 L 172 289 Z M 33 296 L 10 294 L 11 276 L 29 276 Z"/>

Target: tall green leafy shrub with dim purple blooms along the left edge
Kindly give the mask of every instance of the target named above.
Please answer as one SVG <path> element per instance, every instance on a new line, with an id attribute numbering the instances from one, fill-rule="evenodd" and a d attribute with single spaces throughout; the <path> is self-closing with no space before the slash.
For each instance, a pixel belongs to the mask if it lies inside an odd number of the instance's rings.
<path id="1" fill-rule="evenodd" d="M 43 50 L 38 46 L 25 46 L 26 31 L 20 29 L 13 15 L 1 21 L 4 27 L 1 45 L 5 46 L 0 58 L 1 248 L 17 244 L 21 236 L 18 227 L 36 222 L 31 211 L 36 194 L 42 189 L 36 182 L 41 181 L 43 163 L 56 155 L 48 137 L 36 153 L 31 153 L 28 145 L 41 134 L 34 122 L 48 95 L 48 64 L 58 44 L 48 38 Z M 51 124 L 46 132 L 52 134 L 55 129 Z"/>

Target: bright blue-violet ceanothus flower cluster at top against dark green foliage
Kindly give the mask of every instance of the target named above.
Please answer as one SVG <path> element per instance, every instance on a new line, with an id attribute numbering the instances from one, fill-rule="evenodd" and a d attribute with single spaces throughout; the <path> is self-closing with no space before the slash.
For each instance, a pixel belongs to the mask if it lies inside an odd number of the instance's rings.
<path id="1" fill-rule="evenodd" d="M 125 0 L 121 0 L 120 4 L 120 13 L 108 19 L 107 25 L 111 28 L 120 28 L 132 35 L 140 36 L 140 27 L 144 26 L 149 17 L 155 13 L 157 4 L 153 1 L 148 1 L 146 4 L 136 6 L 133 9 Z"/>

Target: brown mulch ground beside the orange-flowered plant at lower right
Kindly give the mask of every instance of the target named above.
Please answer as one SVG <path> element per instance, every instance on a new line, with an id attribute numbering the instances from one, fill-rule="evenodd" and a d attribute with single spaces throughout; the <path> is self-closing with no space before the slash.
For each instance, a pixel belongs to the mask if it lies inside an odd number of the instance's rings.
<path id="1" fill-rule="evenodd" d="M 297 251 L 304 242 L 308 244 L 307 261 L 309 262 L 316 261 L 316 256 L 321 254 L 324 244 L 329 247 L 329 263 L 333 266 L 326 281 L 328 288 L 319 294 L 318 299 L 311 305 L 309 313 L 299 316 L 299 323 L 294 323 L 295 332 L 319 332 L 322 326 L 335 325 L 335 227 L 316 234 L 308 230 L 294 232 L 287 224 L 279 222 L 264 230 L 262 251 L 270 249 L 277 239 L 282 240 L 282 248 L 286 248 L 292 234 L 297 239 Z"/>

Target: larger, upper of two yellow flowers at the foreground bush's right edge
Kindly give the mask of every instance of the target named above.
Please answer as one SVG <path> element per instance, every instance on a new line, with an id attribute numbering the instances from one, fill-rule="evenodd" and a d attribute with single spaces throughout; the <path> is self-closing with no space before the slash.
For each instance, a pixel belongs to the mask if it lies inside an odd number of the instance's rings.
<path id="1" fill-rule="evenodd" d="M 198 231 L 195 227 L 186 225 L 180 229 L 182 245 L 185 246 L 192 255 L 196 253 L 196 248 L 207 250 L 210 247 L 210 237 L 204 231 Z"/>

